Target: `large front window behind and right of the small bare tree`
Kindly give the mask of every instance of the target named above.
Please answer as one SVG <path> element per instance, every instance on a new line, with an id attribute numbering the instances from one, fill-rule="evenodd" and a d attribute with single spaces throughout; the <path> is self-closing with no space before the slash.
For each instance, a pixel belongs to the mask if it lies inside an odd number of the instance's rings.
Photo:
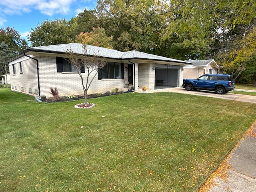
<path id="1" fill-rule="evenodd" d="M 121 78 L 121 64 L 108 62 L 102 68 L 102 79 L 120 79 Z"/>

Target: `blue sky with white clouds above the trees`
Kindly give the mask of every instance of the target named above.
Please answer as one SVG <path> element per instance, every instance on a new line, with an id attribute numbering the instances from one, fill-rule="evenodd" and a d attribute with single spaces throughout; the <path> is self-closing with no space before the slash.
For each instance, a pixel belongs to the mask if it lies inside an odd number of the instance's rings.
<path id="1" fill-rule="evenodd" d="M 0 28 L 13 27 L 22 38 L 43 20 L 75 17 L 97 0 L 0 0 Z"/>

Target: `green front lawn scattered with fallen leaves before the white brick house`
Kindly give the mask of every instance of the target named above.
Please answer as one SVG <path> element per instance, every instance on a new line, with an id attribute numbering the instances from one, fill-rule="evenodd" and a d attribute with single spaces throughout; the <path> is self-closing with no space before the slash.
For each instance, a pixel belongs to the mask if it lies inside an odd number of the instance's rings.
<path id="1" fill-rule="evenodd" d="M 0 191 L 194 192 L 256 116 L 255 104 L 170 92 L 91 109 L 33 100 L 0 89 Z"/>

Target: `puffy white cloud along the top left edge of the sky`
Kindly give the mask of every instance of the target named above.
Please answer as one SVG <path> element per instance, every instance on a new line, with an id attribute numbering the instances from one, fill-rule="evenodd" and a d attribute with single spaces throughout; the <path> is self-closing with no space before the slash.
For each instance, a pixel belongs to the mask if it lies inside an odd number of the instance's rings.
<path id="1" fill-rule="evenodd" d="M 67 14 L 74 1 L 76 0 L 1 0 L 0 11 L 12 15 L 28 13 L 32 9 L 36 9 L 49 16 L 54 13 Z"/>

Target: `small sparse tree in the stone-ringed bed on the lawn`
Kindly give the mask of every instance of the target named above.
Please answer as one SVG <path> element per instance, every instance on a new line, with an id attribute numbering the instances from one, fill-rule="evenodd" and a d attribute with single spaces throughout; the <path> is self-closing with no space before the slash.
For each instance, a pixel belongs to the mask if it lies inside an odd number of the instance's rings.
<path id="1" fill-rule="evenodd" d="M 87 45 L 83 44 L 82 48 L 83 48 L 82 55 L 75 54 L 72 51 L 72 48 L 70 48 L 69 50 L 67 50 L 66 55 L 64 57 L 66 58 L 66 60 L 68 62 L 70 62 L 70 64 L 75 66 L 76 69 L 78 70 L 78 75 L 81 78 L 82 87 L 83 87 L 83 91 L 84 91 L 84 103 L 86 106 L 88 106 L 88 104 L 87 104 L 88 89 L 89 89 L 92 81 L 98 74 L 98 71 L 105 66 L 106 62 L 104 61 L 103 58 L 100 58 L 95 53 L 90 54 Z M 98 52 L 99 52 L 99 50 L 98 50 Z M 86 74 L 85 80 L 84 80 L 84 77 L 82 76 L 82 72 L 81 72 L 81 68 L 83 66 L 84 66 L 84 71 Z M 92 78 L 89 79 L 89 77 L 92 77 Z"/>

